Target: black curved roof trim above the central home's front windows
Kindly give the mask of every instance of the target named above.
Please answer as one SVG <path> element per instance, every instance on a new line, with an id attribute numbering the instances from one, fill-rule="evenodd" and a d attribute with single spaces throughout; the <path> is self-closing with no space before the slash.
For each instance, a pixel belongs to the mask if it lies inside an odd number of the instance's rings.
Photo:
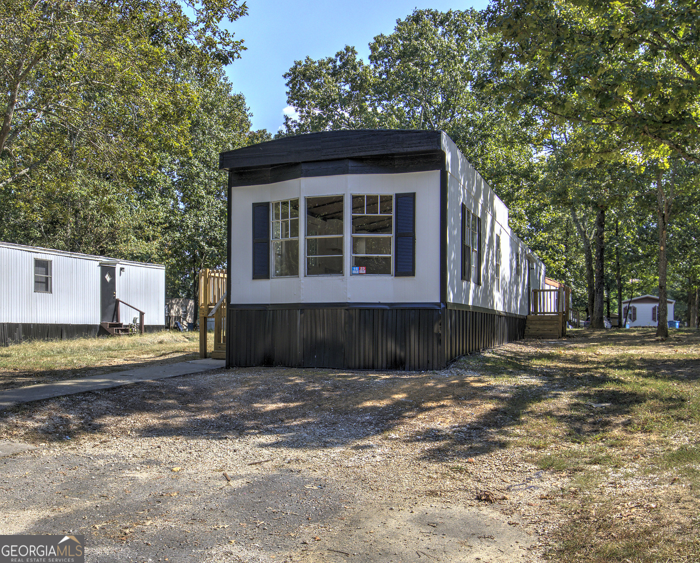
<path id="1" fill-rule="evenodd" d="M 219 155 L 219 168 L 243 172 L 252 169 L 274 170 L 276 167 L 290 167 L 290 165 L 311 162 L 336 161 L 341 168 L 351 169 L 353 161 L 366 162 L 367 159 L 374 160 L 368 164 L 374 163 L 382 168 L 387 165 L 408 163 L 414 159 L 407 157 L 416 155 L 421 157 L 419 160 L 422 163 L 419 166 L 425 166 L 426 160 L 435 162 L 436 156 L 444 158 L 443 134 L 442 131 L 423 130 L 346 130 L 307 133 L 226 151 Z M 433 158 L 430 158 L 431 155 Z M 392 162 L 391 158 L 395 158 L 398 162 Z M 342 161 L 346 162 L 342 163 Z M 435 169 L 434 165 L 432 166 L 430 169 Z M 342 172 L 335 172 L 335 174 L 339 173 Z M 351 170 L 344 173 L 357 172 Z M 258 176 L 258 174 L 253 175 Z M 299 177 L 296 174 L 294 176 Z"/>

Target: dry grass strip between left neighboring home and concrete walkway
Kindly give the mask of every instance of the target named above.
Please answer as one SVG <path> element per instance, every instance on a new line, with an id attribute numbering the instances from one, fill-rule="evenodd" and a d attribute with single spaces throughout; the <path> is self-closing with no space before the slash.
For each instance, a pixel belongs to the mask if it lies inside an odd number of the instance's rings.
<path id="1" fill-rule="evenodd" d="M 209 349 L 213 347 L 209 334 Z M 192 359 L 200 333 L 162 331 L 145 335 L 34 340 L 0 348 L 0 389 L 99 375 L 110 371 Z"/>

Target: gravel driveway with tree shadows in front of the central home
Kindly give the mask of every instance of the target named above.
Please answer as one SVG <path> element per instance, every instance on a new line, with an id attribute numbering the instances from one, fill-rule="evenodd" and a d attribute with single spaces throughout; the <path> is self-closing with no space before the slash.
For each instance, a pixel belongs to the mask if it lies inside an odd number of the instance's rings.
<path id="1" fill-rule="evenodd" d="M 484 422 L 507 392 L 241 368 L 21 405 L 0 436 L 39 447 L 0 459 L 3 533 L 85 534 L 90 562 L 538 561 L 558 483 Z"/>

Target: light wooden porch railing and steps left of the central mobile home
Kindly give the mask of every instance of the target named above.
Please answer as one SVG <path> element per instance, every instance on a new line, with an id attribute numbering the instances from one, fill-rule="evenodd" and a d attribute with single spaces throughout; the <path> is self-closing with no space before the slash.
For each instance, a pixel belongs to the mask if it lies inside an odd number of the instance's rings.
<path id="1" fill-rule="evenodd" d="M 207 357 L 207 319 L 214 317 L 211 357 L 226 358 L 226 270 L 200 272 L 200 358 Z"/>

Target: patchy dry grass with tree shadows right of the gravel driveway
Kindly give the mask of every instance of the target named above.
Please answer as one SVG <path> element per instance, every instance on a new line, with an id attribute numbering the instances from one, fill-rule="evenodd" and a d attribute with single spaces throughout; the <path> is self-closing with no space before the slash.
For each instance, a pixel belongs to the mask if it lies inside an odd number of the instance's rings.
<path id="1" fill-rule="evenodd" d="M 517 389 L 500 405 L 515 415 L 506 439 L 568 478 L 546 496 L 561 515 L 549 557 L 700 562 L 698 331 L 526 342 L 461 363 Z"/>

